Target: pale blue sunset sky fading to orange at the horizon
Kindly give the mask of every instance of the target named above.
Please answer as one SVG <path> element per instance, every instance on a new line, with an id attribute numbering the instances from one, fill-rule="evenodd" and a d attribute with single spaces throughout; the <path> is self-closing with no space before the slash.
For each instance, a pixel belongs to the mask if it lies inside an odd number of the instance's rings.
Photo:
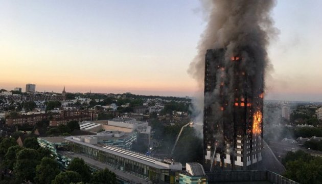
<path id="1" fill-rule="evenodd" d="M 321 7 L 274 8 L 266 99 L 322 101 Z M 187 70 L 205 25 L 196 0 L 0 0 L 0 88 L 193 96 Z"/>

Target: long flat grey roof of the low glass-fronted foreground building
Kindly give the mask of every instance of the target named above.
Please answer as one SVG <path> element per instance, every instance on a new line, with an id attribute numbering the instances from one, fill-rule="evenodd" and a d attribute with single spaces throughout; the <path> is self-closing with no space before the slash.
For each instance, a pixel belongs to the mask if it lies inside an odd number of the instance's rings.
<path id="1" fill-rule="evenodd" d="M 120 152 L 117 152 L 117 151 L 109 150 L 109 149 L 106 149 L 106 148 L 103 148 L 103 147 L 100 147 L 100 146 L 95 146 L 95 145 L 91 145 L 91 144 L 87 144 L 87 143 L 84 143 L 84 142 L 73 140 L 72 136 L 66 137 L 65 140 L 68 140 L 68 141 L 71 141 L 71 142 L 74 142 L 74 143 L 77 143 L 77 144 L 81 144 L 81 145 L 84 145 L 84 146 L 88 146 L 88 147 L 91 147 L 91 148 L 94 148 L 94 149 L 98 149 L 98 150 L 101 150 L 101 151 L 104 151 L 104 152 L 107 152 L 107 153 L 110 153 L 110 154 L 113 154 L 113 155 L 117 155 L 117 156 L 120 156 L 120 157 L 123 157 L 123 158 L 127 158 L 127 159 L 133 160 L 133 161 L 135 161 L 137 163 L 142 163 L 142 164 L 145 164 L 145 165 L 153 167 L 153 168 L 169 169 L 167 167 L 163 167 L 163 166 L 148 162 L 148 161 L 146 161 L 144 159 L 141 159 L 141 158 L 137 158 L 137 157 L 134 157 L 134 156 L 131 156 L 131 155 L 127 155 L 127 154 L 120 153 Z M 106 145 L 104 145 L 104 146 L 108 147 Z M 132 152 L 130 152 L 130 153 L 132 153 Z M 142 155 L 140 155 L 140 156 L 142 156 Z M 155 161 L 160 162 L 160 160 L 158 160 L 157 158 L 152 158 L 152 157 L 148 157 L 148 156 L 145 156 L 145 157 L 149 158 L 149 159 L 154 159 Z"/>

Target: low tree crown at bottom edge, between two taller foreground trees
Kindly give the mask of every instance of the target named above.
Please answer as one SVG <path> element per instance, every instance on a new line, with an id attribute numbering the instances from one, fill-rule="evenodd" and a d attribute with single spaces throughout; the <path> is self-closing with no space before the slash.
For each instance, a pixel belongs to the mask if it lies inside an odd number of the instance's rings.
<path id="1" fill-rule="evenodd" d="M 70 184 L 77 183 L 82 181 L 82 176 L 75 171 L 65 171 L 60 172 L 55 179 L 52 181 L 52 184 Z"/>

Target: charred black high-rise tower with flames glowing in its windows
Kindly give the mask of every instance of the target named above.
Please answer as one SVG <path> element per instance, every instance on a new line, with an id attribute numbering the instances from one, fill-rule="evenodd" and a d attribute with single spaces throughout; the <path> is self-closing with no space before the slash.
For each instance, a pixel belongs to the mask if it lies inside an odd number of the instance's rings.
<path id="1" fill-rule="evenodd" d="M 264 66 L 245 50 L 213 49 L 205 55 L 203 166 L 208 171 L 254 169 L 262 160 Z"/>

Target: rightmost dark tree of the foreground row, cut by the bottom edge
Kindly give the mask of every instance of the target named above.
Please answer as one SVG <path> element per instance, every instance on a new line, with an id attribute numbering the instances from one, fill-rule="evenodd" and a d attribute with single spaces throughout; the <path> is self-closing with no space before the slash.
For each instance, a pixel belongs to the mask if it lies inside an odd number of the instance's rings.
<path id="1" fill-rule="evenodd" d="M 103 169 L 101 171 L 93 173 L 93 177 L 90 180 L 93 184 L 114 184 L 116 183 L 116 174 L 109 171 L 108 169 Z"/>

